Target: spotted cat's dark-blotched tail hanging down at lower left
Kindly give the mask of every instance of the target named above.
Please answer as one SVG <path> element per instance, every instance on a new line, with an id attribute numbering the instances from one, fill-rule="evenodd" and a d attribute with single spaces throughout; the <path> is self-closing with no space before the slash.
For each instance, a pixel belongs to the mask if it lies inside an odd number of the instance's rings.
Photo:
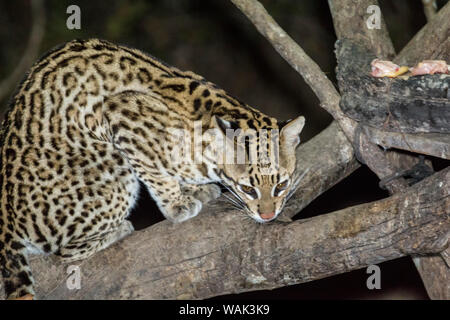
<path id="1" fill-rule="evenodd" d="M 0 268 L 7 299 L 29 300 L 34 297 L 26 247 L 9 232 L 6 225 L 0 225 Z"/>

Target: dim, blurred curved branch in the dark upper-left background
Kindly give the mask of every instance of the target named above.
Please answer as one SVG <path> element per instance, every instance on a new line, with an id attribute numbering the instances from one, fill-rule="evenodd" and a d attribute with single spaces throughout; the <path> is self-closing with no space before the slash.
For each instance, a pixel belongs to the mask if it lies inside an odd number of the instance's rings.
<path id="1" fill-rule="evenodd" d="M 11 93 L 13 87 L 19 82 L 39 54 L 39 47 L 44 37 L 45 8 L 43 0 L 31 1 L 31 16 L 33 19 L 30 36 L 24 54 L 14 71 L 0 83 L 0 101 Z"/>

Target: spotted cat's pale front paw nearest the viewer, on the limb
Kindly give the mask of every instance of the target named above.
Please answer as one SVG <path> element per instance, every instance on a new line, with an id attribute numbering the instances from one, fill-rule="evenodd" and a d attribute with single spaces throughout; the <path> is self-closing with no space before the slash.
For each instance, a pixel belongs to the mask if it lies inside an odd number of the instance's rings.
<path id="1" fill-rule="evenodd" d="M 168 220 L 179 223 L 195 217 L 202 209 L 202 202 L 193 196 L 184 195 L 161 209 Z"/>

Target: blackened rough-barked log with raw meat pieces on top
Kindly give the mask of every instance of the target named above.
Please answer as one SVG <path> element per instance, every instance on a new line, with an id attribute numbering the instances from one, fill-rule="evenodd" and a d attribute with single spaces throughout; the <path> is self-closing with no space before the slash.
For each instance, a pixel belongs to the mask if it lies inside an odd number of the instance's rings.
<path id="1" fill-rule="evenodd" d="M 354 41 L 336 44 L 340 106 L 360 124 L 383 131 L 450 133 L 450 75 L 375 78 L 375 54 Z"/>

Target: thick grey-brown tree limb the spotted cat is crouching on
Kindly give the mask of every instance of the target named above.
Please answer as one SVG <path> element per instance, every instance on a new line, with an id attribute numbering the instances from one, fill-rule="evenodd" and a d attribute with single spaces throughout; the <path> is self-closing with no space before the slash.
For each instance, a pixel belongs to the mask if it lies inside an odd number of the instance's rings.
<path id="1" fill-rule="evenodd" d="M 33 260 L 46 299 L 202 299 L 273 289 L 408 254 L 440 252 L 450 230 L 450 169 L 390 198 L 293 223 L 255 224 L 220 203 L 182 224 L 168 221 L 80 262 Z"/>

